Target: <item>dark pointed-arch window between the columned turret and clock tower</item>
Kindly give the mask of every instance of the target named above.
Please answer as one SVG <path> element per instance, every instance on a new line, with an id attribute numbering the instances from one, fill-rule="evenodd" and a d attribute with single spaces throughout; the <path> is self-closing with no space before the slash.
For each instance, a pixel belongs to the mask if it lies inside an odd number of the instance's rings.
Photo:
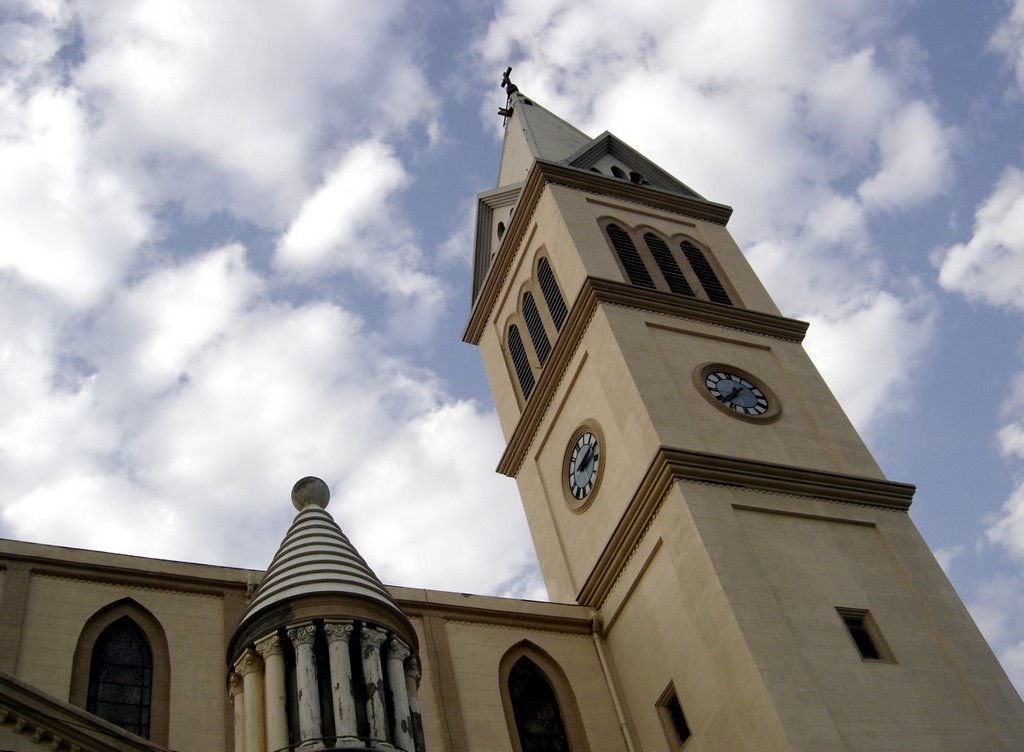
<path id="1" fill-rule="evenodd" d="M 525 656 L 509 672 L 509 697 L 522 752 L 569 752 L 554 690 Z"/>

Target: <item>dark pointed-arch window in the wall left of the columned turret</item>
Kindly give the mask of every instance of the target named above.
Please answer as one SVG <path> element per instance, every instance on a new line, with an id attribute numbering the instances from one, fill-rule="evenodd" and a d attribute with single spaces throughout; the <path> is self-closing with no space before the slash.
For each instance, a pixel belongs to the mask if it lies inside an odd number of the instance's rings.
<path id="1" fill-rule="evenodd" d="M 92 649 L 86 709 L 127 732 L 150 738 L 153 654 L 142 630 L 123 617 Z"/>

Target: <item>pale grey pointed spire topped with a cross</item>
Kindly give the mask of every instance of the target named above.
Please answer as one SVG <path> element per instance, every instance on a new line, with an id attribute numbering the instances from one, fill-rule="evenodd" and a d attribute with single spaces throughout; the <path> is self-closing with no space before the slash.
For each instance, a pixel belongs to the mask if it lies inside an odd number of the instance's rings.
<path id="1" fill-rule="evenodd" d="M 502 78 L 508 102 L 498 111 L 505 118 L 498 187 L 525 180 L 535 160 L 562 162 L 592 140 L 575 126 L 523 95 L 509 80 L 511 71 L 509 68 Z"/>

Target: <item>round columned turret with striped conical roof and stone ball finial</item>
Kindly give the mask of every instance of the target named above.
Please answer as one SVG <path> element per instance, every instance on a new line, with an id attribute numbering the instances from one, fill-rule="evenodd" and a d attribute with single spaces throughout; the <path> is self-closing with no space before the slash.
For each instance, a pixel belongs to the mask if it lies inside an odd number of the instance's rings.
<path id="1" fill-rule="evenodd" d="M 234 749 L 423 752 L 416 632 L 327 512 L 317 477 L 231 639 Z"/>

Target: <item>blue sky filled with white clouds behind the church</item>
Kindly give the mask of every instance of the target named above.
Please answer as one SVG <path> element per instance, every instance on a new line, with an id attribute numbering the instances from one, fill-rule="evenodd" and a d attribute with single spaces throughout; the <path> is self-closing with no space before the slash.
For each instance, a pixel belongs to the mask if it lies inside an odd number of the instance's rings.
<path id="1" fill-rule="evenodd" d="M 506 66 L 714 201 L 1024 688 L 1024 0 L 0 4 L 0 536 L 542 596 L 468 315 Z"/>

